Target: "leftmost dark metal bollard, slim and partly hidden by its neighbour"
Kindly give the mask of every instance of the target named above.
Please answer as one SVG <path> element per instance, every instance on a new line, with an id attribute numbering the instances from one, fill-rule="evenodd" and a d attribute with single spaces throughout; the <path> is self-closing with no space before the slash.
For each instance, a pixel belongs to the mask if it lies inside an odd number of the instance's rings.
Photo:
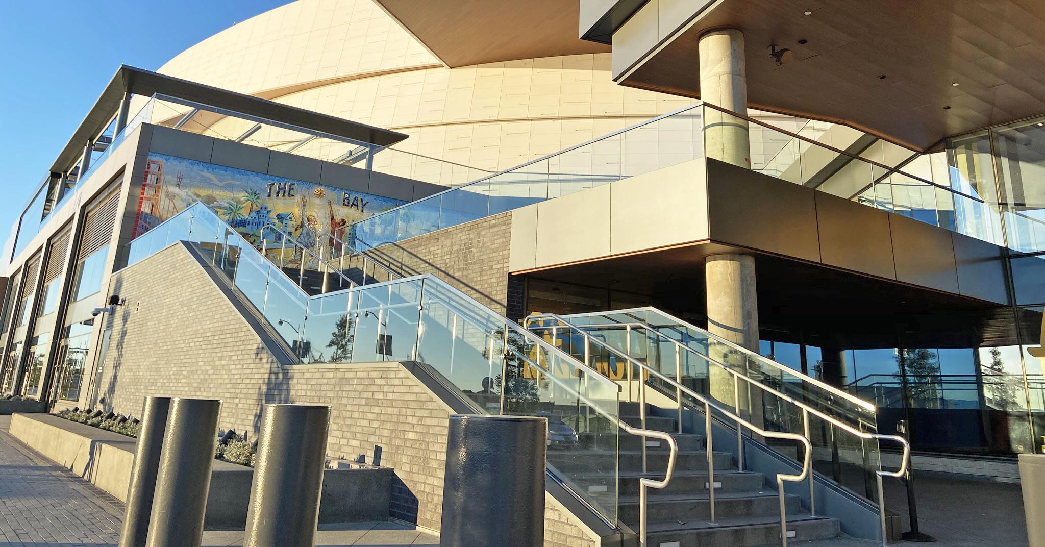
<path id="1" fill-rule="evenodd" d="M 163 433 L 167 429 L 169 408 L 170 397 L 145 397 L 119 547 L 145 547 L 148 517 L 153 512 L 153 496 L 156 494 L 156 474 L 160 470 L 160 452 L 163 448 Z"/>

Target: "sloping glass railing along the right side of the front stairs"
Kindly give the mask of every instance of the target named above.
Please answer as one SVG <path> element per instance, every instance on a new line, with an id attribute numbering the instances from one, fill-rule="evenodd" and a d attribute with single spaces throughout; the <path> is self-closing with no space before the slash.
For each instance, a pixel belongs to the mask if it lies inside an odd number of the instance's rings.
<path id="1" fill-rule="evenodd" d="M 874 501 L 874 472 L 881 469 L 878 442 L 854 435 L 827 419 L 834 418 L 861 433 L 876 434 L 874 404 L 654 307 L 567 315 L 561 320 L 659 373 L 680 378 L 679 383 L 721 405 L 739 404 L 749 409 L 747 412 L 764 424 L 766 430 L 805 434 L 813 445 L 814 469 Z M 574 347 L 579 340 L 577 333 L 563 328 L 559 322 L 541 316 L 528 319 L 528 324 L 537 325 L 539 332 L 552 336 L 563 348 Z M 599 354 L 599 359 L 603 354 Z M 734 374 L 723 368 L 767 389 L 738 386 L 730 378 Z M 815 412 L 804 416 L 802 406 Z M 794 457 L 787 448 L 780 452 Z"/>

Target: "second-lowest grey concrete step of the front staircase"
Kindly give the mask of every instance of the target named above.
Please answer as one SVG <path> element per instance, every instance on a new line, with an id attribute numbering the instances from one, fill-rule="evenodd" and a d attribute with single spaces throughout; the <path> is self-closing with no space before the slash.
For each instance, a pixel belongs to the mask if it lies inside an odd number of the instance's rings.
<path id="1" fill-rule="evenodd" d="M 674 479 L 672 479 L 674 480 Z M 802 510 L 797 496 L 785 495 L 784 505 L 788 512 Z M 638 496 L 619 498 L 618 518 L 629 526 L 638 523 Z M 706 492 L 699 494 L 659 494 L 650 491 L 649 520 L 661 521 L 704 521 L 711 516 L 711 503 Z M 719 492 L 715 493 L 715 517 L 780 516 L 780 498 L 774 492 Z"/>

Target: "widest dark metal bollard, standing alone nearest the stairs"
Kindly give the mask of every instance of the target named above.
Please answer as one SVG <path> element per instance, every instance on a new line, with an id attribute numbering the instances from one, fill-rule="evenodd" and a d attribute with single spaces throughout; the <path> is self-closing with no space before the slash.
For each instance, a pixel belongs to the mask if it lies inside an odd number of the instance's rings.
<path id="1" fill-rule="evenodd" d="M 451 415 L 440 547 L 544 544 L 548 420 Z"/>

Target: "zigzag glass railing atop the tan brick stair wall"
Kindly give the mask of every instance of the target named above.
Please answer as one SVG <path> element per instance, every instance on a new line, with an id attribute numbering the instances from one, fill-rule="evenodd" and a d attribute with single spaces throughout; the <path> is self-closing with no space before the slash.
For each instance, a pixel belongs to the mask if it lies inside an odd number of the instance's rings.
<path id="1" fill-rule="evenodd" d="M 547 417 L 550 472 L 616 524 L 628 435 L 618 384 L 432 275 L 308 296 L 201 203 L 131 242 L 127 264 L 177 242 L 224 272 L 301 363 L 417 361 L 478 413 Z"/>

